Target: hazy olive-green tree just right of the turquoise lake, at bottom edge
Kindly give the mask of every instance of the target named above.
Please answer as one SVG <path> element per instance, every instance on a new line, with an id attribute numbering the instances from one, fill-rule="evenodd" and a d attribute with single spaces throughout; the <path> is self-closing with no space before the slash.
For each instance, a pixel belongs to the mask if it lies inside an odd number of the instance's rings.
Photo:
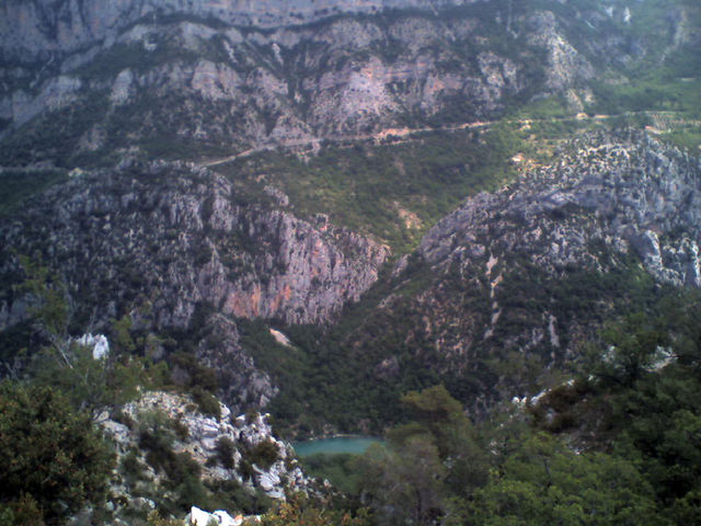
<path id="1" fill-rule="evenodd" d="M 388 433 L 387 447 L 364 457 L 361 490 L 384 523 L 428 525 L 486 481 L 487 460 L 460 402 L 443 386 L 411 391 L 414 419 Z"/>

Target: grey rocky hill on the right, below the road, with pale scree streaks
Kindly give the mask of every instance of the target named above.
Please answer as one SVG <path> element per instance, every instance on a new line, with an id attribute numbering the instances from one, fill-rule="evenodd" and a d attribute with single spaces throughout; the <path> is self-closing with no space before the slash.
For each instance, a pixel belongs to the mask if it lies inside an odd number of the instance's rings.
<path id="1" fill-rule="evenodd" d="M 581 136 L 432 228 L 425 266 L 399 262 L 393 291 L 349 344 L 379 379 L 401 377 L 403 348 L 416 350 L 478 412 L 496 391 L 522 396 L 550 365 L 581 357 L 606 320 L 665 287 L 701 286 L 700 210 L 698 158 L 640 132 Z M 376 327 L 399 329 L 363 336 Z M 376 351 L 384 340 L 399 362 Z"/>

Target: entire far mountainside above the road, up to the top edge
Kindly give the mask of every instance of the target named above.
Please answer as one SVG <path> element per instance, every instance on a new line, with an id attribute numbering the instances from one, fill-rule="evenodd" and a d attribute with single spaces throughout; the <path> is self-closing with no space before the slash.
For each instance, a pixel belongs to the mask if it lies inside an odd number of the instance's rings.
<path id="1" fill-rule="evenodd" d="M 8 2 L 0 162 L 306 147 L 491 119 L 544 94 L 596 108 L 595 81 L 628 83 L 632 65 L 674 62 L 698 44 L 698 10 L 683 2 L 646 34 L 650 5 L 640 16 L 588 2 L 402 5 L 347 4 L 294 25 L 287 13 L 262 27 L 238 13 L 280 5 Z"/>

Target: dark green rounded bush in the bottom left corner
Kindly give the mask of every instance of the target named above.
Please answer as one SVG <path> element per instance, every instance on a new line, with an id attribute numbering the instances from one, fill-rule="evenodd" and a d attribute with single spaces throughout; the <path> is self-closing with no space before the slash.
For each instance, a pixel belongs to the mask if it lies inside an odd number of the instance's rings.
<path id="1" fill-rule="evenodd" d="M 47 524 L 99 502 L 113 465 L 90 415 L 51 388 L 10 381 L 0 384 L 0 502 L 31 498 Z"/>

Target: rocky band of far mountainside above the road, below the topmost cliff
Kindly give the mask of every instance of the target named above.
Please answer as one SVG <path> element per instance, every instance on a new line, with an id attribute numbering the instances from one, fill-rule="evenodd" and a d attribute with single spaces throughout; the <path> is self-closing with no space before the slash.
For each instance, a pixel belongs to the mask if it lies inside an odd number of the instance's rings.
<path id="1" fill-rule="evenodd" d="M 509 38 L 495 50 L 479 43 L 504 30 L 469 14 L 348 15 L 274 32 L 146 19 L 53 72 L 4 71 L 0 117 L 12 149 L 2 163 L 84 164 L 131 146 L 179 158 L 202 156 L 194 144 L 235 153 L 426 119 L 487 118 L 542 89 L 540 55 L 552 43 Z M 555 38 L 554 22 L 542 31 Z M 590 76 L 582 64 L 562 83 Z M 60 138 L 48 136 L 54 125 Z"/>

